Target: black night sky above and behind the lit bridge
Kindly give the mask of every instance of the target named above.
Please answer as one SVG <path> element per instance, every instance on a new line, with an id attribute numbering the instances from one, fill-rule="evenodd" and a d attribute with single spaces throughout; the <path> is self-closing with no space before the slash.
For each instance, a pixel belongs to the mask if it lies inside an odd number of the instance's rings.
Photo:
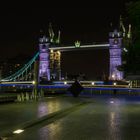
<path id="1" fill-rule="evenodd" d="M 13 58 L 20 54 L 33 56 L 38 50 L 40 30 L 48 35 L 50 22 L 56 33 L 59 29 L 61 30 L 61 44 L 63 45 L 73 45 L 75 40 L 80 40 L 81 44 L 108 42 L 110 23 L 117 27 L 119 16 L 124 12 L 124 3 L 122 0 L 116 2 L 98 0 L 98 2 L 93 1 L 93 4 L 85 3 L 85 5 L 65 2 L 65 6 L 62 3 L 52 5 L 47 2 L 6 4 L 0 11 L 0 59 Z M 79 54 L 77 53 L 77 59 L 80 57 Z M 66 58 L 69 54 L 63 55 L 70 63 L 72 57 Z M 108 57 L 108 53 L 103 53 L 101 50 L 96 50 L 93 55 L 99 57 L 98 59 L 104 56 L 104 61 L 107 60 L 105 57 Z M 67 62 L 63 64 L 64 71 L 69 68 Z M 108 60 L 104 65 L 107 66 L 107 63 Z M 95 65 L 96 62 L 93 61 L 93 66 L 90 67 L 95 67 Z"/>

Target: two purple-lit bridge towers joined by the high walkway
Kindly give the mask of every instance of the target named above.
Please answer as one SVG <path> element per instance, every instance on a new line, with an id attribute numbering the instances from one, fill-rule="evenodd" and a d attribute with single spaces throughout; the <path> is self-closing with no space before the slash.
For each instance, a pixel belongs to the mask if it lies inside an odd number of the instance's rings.
<path id="1" fill-rule="evenodd" d="M 48 39 L 44 36 L 40 42 L 40 65 L 39 81 L 49 81 L 51 79 L 61 80 L 61 52 L 89 50 L 89 49 L 108 49 L 110 54 L 109 79 L 122 80 L 123 72 L 117 69 L 122 65 L 122 34 L 117 30 L 110 32 L 109 43 L 79 45 L 79 46 L 51 46 Z M 43 47 L 44 46 L 44 47 Z"/>

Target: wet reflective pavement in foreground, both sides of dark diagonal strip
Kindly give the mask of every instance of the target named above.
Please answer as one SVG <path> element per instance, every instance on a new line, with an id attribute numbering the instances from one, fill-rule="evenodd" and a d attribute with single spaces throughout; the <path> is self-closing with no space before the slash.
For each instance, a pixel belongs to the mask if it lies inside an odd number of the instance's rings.
<path id="1" fill-rule="evenodd" d="M 55 119 L 47 120 L 25 129 L 11 140 L 139 140 L 140 139 L 140 99 L 137 97 L 94 96 L 90 98 L 56 97 L 43 102 L 1 105 L 1 128 L 39 118 L 51 112 L 75 106 L 80 102 L 89 104 Z M 49 106 L 49 103 L 51 104 Z M 45 105 L 42 105 L 45 104 Z M 9 106 L 7 108 L 6 106 Z M 46 107 L 44 107 L 46 106 Z M 20 108 L 20 109 L 19 109 Z M 47 109 L 46 109 L 47 108 Z M 13 110 L 14 109 L 14 110 Z M 13 113 L 12 113 L 13 110 Z M 19 111 L 20 110 L 20 111 Z M 49 111 L 50 110 L 50 111 Z M 42 112 L 42 113 L 41 113 Z M 12 115 L 11 115 L 12 114 Z M 22 119 L 21 119 L 22 118 Z M 17 120 L 16 120 L 17 119 Z M 21 121 L 22 120 L 22 121 Z M 2 123 L 3 121 L 3 123 Z M 15 122 L 16 121 L 16 122 Z M 10 121 L 9 121 L 10 122 Z M 2 124 L 1 124 L 2 123 Z M 5 124 L 6 123 L 6 126 Z M 9 125 L 10 126 L 10 125 Z"/>

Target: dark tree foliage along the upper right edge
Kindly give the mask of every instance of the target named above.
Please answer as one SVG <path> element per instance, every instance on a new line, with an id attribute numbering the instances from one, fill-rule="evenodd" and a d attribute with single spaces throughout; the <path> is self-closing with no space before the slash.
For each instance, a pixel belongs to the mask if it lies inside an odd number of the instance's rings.
<path id="1" fill-rule="evenodd" d="M 129 22 L 132 24 L 132 41 L 126 55 L 125 70 L 128 73 L 140 73 L 140 1 L 126 4 Z"/>

